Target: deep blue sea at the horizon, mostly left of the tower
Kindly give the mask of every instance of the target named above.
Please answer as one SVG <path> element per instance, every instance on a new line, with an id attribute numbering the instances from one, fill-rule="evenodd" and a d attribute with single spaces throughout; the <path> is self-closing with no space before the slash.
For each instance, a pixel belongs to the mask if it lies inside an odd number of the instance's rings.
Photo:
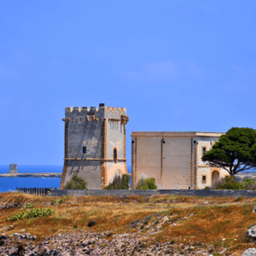
<path id="1" fill-rule="evenodd" d="M 18 166 L 19 173 L 62 172 L 63 166 Z M 131 172 L 131 166 L 127 166 Z M 0 174 L 9 173 L 9 166 L 0 165 Z M 59 189 L 61 177 L 0 177 L 0 192 L 15 191 L 16 188 Z M 131 185 L 131 181 L 130 181 Z"/>

